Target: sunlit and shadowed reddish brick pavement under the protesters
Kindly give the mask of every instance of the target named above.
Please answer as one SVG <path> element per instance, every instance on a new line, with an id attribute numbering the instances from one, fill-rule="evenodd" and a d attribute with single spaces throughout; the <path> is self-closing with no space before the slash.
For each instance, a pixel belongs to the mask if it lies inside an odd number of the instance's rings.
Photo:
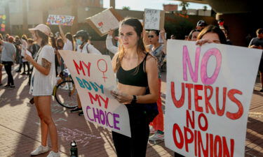
<path id="1" fill-rule="evenodd" d="M 0 157 L 29 156 L 30 152 L 41 144 L 39 117 L 34 105 L 29 104 L 28 76 L 15 73 L 18 66 L 13 67 L 15 89 L 0 87 Z M 165 109 L 166 77 L 163 73 L 162 97 Z M 3 84 L 7 75 L 3 68 Z M 257 78 L 257 82 L 259 82 Z M 248 129 L 245 141 L 245 156 L 263 156 L 263 93 L 259 92 L 260 84 L 255 84 L 252 96 Z M 82 156 L 116 156 L 112 133 L 100 126 L 92 124 L 72 114 L 69 109 L 52 101 L 52 113 L 58 128 L 58 143 L 62 157 L 70 156 L 70 142 L 75 140 Z M 48 145 L 50 140 L 48 137 Z M 39 155 L 47 156 L 48 153 Z M 147 156 L 173 156 L 173 151 L 165 147 L 163 141 L 149 142 Z"/>

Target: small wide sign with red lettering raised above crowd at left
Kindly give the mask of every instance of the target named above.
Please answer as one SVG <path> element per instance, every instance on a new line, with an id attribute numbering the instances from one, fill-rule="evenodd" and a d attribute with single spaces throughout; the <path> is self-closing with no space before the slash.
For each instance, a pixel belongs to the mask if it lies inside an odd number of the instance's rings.
<path id="1" fill-rule="evenodd" d="M 74 16 L 69 15 L 48 15 L 46 24 L 62 24 L 65 26 L 72 26 L 74 18 Z"/>

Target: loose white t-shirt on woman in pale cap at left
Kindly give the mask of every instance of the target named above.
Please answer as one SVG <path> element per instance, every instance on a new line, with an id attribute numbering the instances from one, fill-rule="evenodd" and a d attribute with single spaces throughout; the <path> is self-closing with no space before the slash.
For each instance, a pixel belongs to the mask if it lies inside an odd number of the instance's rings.
<path id="1" fill-rule="evenodd" d="M 50 45 L 45 45 L 39 51 L 39 54 L 36 54 L 36 57 L 39 56 L 36 62 L 42 65 L 42 59 L 46 59 L 51 63 L 51 67 L 48 75 L 43 75 L 39 70 L 34 68 L 29 94 L 33 96 L 50 96 L 56 83 L 55 53 L 53 47 Z"/>

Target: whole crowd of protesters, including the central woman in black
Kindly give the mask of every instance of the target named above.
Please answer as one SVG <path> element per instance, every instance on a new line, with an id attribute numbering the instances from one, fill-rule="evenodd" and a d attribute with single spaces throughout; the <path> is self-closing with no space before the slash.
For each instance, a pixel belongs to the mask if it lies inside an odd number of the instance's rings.
<path id="1" fill-rule="evenodd" d="M 32 156 L 49 151 L 48 133 L 52 144 L 48 157 L 60 156 L 58 133 L 50 112 L 51 95 L 57 83 L 56 77 L 67 68 L 58 50 L 102 54 L 90 43 L 87 31 L 80 30 L 72 36 L 71 33 L 65 34 L 60 25 L 58 27 L 60 32 L 54 35 L 47 25 L 39 24 L 29 29 L 32 38 L 27 38 L 26 35 L 14 38 L 8 34 L 5 36 L 0 34 L 0 86 L 6 89 L 15 88 L 12 67 L 14 63 L 19 64 L 15 72 L 29 75 L 29 93 L 34 96 L 30 102 L 35 104 L 41 120 L 41 145 L 32 151 Z M 258 29 L 256 33 L 257 37 L 252 38 L 248 47 L 262 50 L 263 30 Z M 166 61 L 165 34 L 164 29 L 144 30 L 139 20 L 126 18 L 120 23 L 118 36 L 114 38 L 114 31 L 109 31 L 107 35 L 106 46 L 109 52 L 114 54 L 112 67 L 118 80 L 118 91 L 112 91 L 112 95 L 119 103 L 126 105 L 131 128 L 131 137 L 112 132 L 117 156 L 145 156 L 148 140 L 164 139 L 161 67 Z M 219 20 L 218 26 L 208 25 L 204 20 L 200 20 L 196 28 L 186 36 L 186 40 L 196 41 L 196 45 L 200 46 L 205 43 L 231 44 L 228 34 L 229 30 L 224 25 L 224 20 Z M 116 43 L 113 43 L 113 38 L 116 39 Z M 175 38 L 175 35 L 170 36 L 170 39 Z M 8 75 L 6 85 L 1 82 L 3 66 Z M 260 61 L 259 72 L 263 84 L 263 58 Z M 263 92 L 263 88 L 260 91 Z M 79 112 L 81 116 L 83 110 L 79 96 L 76 103 L 78 107 L 70 112 Z M 149 103 L 156 103 L 158 107 L 159 114 L 153 121 L 147 119 L 141 107 Z M 175 153 L 175 156 L 182 155 Z"/>

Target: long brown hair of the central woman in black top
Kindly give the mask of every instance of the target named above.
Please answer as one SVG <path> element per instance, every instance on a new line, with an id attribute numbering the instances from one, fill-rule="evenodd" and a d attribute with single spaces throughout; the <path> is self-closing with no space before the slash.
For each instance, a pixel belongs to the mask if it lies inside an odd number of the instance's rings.
<path id="1" fill-rule="evenodd" d="M 132 17 L 126 17 L 123 21 L 121 21 L 120 27 L 123 26 L 124 24 L 133 27 L 133 29 L 135 30 L 139 40 L 137 40 L 137 55 L 138 55 L 138 62 L 140 60 L 140 57 L 142 57 L 143 52 L 145 52 L 145 46 L 142 40 L 142 23 Z M 125 54 L 125 50 L 122 44 L 119 45 L 119 56 L 118 59 L 116 60 L 116 65 L 114 66 L 114 72 L 116 73 L 117 70 L 119 70 L 119 68 L 121 67 L 121 61 L 124 57 Z M 135 70 L 135 74 L 138 72 L 139 70 L 139 66 L 137 66 L 136 70 Z"/>

